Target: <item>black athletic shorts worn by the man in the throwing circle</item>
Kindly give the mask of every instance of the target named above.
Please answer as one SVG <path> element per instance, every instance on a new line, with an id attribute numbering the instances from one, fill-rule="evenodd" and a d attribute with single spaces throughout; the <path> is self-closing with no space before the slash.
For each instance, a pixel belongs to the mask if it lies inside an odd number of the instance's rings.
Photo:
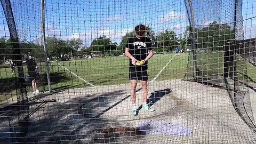
<path id="1" fill-rule="evenodd" d="M 144 66 L 130 66 L 129 79 L 138 79 L 140 81 L 148 81 L 148 67 Z"/>

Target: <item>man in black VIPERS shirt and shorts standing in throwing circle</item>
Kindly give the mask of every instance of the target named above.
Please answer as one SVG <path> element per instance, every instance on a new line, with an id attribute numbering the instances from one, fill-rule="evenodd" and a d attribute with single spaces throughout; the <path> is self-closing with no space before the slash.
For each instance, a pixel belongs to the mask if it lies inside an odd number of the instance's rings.
<path id="1" fill-rule="evenodd" d="M 130 59 L 129 79 L 131 81 L 131 98 L 132 98 L 132 114 L 137 114 L 135 106 L 137 87 L 137 79 L 140 80 L 142 86 L 142 109 L 154 111 L 147 106 L 147 81 L 148 81 L 148 60 L 153 56 L 152 42 L 145 36 L 146 26 L 138 25 L 135 28 L 135 37 L 128 38 L 125 48 L 125 55 Z M 137 62 L 142 62 L 142 65 L 137 65 Z"/>

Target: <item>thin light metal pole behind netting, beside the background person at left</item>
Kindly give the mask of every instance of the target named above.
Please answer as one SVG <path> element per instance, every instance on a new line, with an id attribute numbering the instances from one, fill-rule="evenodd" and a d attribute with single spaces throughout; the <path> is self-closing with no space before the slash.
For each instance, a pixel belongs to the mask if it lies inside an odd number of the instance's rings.
<path id="1" fill-rule="evenodd" d="M 51 79 L 50 79 L 50 67 L 49 67 L 49 63 L 47 61 L 47 49 L 46 49 L 46 45 L 45 45 L 45 18 L 44 18 L 44 0 L 41 0 L 41 31 L 42 31 L 42 43 L 43 43 L 43 47 L 44 47 L 44 59 L 45 59 L 45 65 L 46 65 L 46 75 L 47 75 L 47 82 L 48 82 L 48 89 L 49 92 L 52 91 L 52 87 L 51 87 Z"/>

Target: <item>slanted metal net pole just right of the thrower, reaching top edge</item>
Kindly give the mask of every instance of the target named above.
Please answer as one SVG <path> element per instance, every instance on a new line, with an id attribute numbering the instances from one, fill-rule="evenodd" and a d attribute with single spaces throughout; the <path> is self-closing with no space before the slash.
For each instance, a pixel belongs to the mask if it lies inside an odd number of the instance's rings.
<path id="1" fill-rule="evenodd" d="M 191 21 L 190 21 L 190 30 L 192 33 L 192 60 L 193 60 L 193 69 L 194 69 L 194 78 L 197 79 L 198 73 L 197 73 L 197 63 L 196 63 L 196 33 L 195 33 L 195 17 L 194 17 L 194 12 L 193 12 L 193 5 L 191 0 L 185 0 L 188 1 L 189 4 L 189 9 L 190 9 L 190 14 L 191 14 Z"/>

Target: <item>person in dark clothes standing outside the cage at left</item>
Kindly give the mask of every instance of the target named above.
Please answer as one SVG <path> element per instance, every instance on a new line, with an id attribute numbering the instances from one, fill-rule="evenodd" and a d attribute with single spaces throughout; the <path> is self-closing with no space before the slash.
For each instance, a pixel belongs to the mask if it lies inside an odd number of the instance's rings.
<path id="1" fill-rule="evenodd" d="M 39 73 L 38 73 L 38 70 L 36 70 L 37 69 L 36 61 L 32 57 L 31 53 L 28 53 L 28 59 L 26 60 L 26 62 L 27 62 L 27 68 L 28 68 L 28 76 L 31 79 L 34 94 L 37 94 L 39 93 L 37 89 Z"/>

